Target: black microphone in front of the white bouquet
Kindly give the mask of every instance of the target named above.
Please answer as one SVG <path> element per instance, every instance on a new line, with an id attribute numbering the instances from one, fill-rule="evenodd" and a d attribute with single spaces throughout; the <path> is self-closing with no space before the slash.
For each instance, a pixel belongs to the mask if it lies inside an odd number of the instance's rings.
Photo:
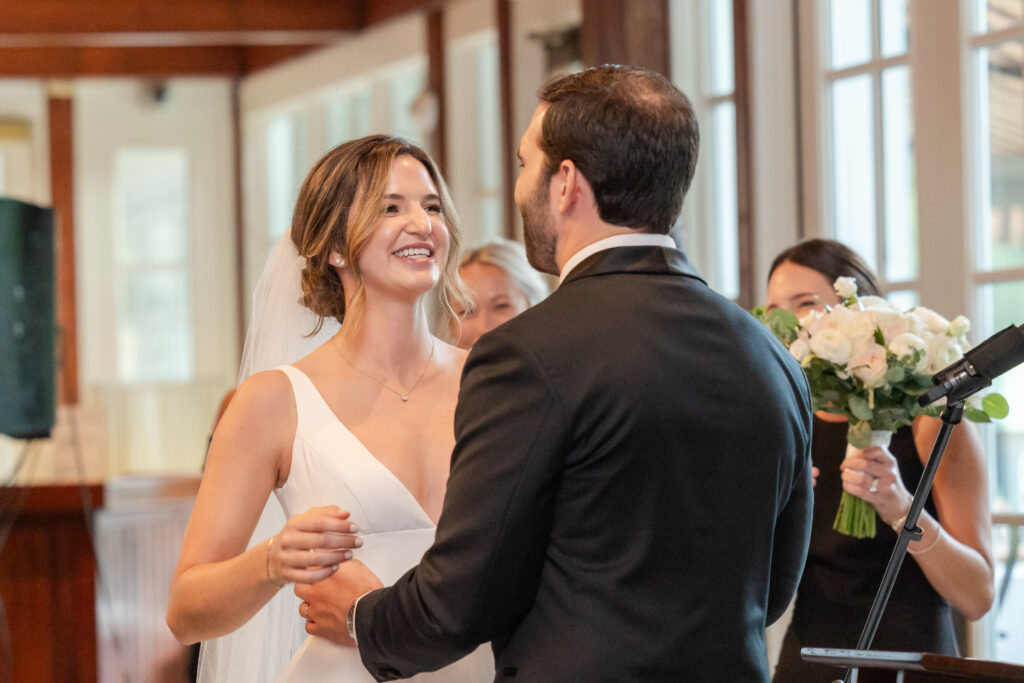
<path id="1" fill-rule="evenodd" d="M 987 386 L 1002 373 L 1024 362 L 1024 328 L 1011 325 L 964 354 L 964 357 L 932 377 L 933 388 L 918 397 L 928 405 L 943 396 L 953 403 Z"/>

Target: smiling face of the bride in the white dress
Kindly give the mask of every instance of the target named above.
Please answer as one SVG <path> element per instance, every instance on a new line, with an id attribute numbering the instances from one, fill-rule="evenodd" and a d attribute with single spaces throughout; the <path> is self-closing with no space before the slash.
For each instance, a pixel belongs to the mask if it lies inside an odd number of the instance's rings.
<path id="1" fill-rule="evenodd" d="M 380 216 L 359 254 L 367 292 L 415 297 L 430 291 L 447 261 L 449 230 L 437 187 L 413 157 L 400 155 L 391 164 Z"/>

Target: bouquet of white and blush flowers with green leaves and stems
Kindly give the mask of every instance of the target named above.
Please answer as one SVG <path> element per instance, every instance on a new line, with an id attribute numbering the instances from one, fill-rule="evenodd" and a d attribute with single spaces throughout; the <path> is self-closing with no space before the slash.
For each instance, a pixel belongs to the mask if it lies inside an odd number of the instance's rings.
<path id="1" fill-rule="evenodd" d="M 900 311 L 882 297 L 857 296 L 857 283 L 835 284 L 841 303 L 803 318 L 763 306 L 752 312 L 781 341 L 807 373 L 815 411 L 844 415 L 847 441 L 854 449 L 888 445 L 893 432 L 919 415 L 937 416 L 944 401 L 922 408 L 918 396 L 932 386 L 932 375 L 970 349 L 970 323 L 952 322 L 916 306 Z M 989 393 L 964 416 L 975 422 L 1004 418 L 1006 399 Z M 833 528 L 858 539 L 874 538 L 870 503 L 843 492 Z"/>

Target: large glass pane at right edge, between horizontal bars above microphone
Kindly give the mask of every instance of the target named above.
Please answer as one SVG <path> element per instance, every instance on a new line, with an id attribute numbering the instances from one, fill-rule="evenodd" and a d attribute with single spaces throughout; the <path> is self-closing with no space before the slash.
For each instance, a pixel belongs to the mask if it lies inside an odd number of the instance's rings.
<path id="1" fill-rule="evenodd" d="M 982 225 L 978 267 L 1024 265 L 1024 43 L 979 50 Z M 987 191 L 986 191 L 987 190 Z"/>

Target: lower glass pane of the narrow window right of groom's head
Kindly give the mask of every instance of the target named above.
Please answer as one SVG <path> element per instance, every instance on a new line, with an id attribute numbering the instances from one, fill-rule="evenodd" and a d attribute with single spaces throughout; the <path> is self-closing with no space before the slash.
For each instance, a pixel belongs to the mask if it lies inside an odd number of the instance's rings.
<path id="1" fill-rule="evenodd" d="M 712 111 L 712 185 L 715 194 L 715 273 L 712 286 L 723 296 L 739 296 L 739 238 L 736 200 L 736 108 L 723 102 Z"/>

